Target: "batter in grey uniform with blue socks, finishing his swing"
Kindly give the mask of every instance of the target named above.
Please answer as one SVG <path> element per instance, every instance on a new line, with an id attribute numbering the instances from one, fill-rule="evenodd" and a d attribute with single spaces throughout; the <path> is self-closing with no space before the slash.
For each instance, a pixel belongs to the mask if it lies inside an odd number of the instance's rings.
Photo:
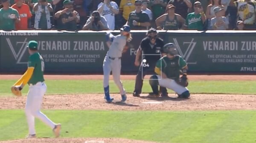
<path id="1" fill-rule="evenodd" d="M 131 40 L 130 27 L 128 25 L 124 25 L 120 30 L 121 34 L 117 36 L 107 34 L 107 45 L 109 47 L 109 50 L 103 62 L 103 86 L 105 91 L 105 99 L 108 103 L 111 103 L 113 101 L 113 98 L 111 98 L 109 94 L 109 75 L 111 71 L 114 82 L 119 88 L 120 94 L 122 96 L 122 102 L 125 102 L 127 98 L 122 85 L 122 81 L 120 81 L 120 72 L 122 51 L 126 45 L 126 42 Z"/>

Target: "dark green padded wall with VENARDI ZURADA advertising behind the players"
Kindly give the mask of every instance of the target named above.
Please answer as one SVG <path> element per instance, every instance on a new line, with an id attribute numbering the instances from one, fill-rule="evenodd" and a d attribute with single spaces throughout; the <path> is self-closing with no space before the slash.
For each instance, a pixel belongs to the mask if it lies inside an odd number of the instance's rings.
<path id="1" fill-rule="evenodd" d="M 119 31 L 111 31 L 118 34 Z M 133 40 L 122 56 L 122 73 L 136 73 L 136 50 L 146 31 L 131 31 Z M 45 61 L 45 72 L 102 74 L 108 47 L 106 31 L 0 31 L 0 73 L 23 73 L 36 40 Z M 256 72 L 255 31 L 159 31 L 165 43 L 173 42 L 191 73 Z"/>

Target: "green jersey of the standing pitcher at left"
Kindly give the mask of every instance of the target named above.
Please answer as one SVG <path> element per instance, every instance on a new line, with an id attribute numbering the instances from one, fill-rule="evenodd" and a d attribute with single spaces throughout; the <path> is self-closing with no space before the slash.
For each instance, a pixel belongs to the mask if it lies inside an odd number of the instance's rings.
<path id="1" fill-rule="evenodd" d="M 38 52 L 29 56 L 28 67 L 34 67 L 28 84 L 36 84 L 37 82 L 44 81 L 44 59 Z"/>

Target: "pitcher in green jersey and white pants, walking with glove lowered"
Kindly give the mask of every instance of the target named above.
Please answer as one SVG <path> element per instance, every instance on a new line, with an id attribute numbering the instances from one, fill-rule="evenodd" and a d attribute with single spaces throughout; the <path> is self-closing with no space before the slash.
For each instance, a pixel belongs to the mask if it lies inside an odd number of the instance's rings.
<path id="1" fill-rule="evenodd" d="M 17 90 L 29 84 L 29 92 L 26 101 L 26 118 L 29 126 L 29 135 L 26 138 L 35 138 L 35 118 L 39 118 L 52 128 L 55 137 L 60 135 L 61 124 L 53 123 L 46 115 L 40 112 L 44 93 L 47 86 L 44 83 L 44 59 L 38 53 L 38 42 L 29 41 L 29 62 L 26 73 L 14 84 Z"/>

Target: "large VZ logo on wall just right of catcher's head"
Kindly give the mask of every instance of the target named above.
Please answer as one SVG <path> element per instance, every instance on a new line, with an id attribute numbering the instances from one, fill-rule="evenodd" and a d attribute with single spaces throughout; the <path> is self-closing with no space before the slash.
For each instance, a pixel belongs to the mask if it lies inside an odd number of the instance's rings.
<path id="1" fill-rule="evenodd" d="M 196 42 L 194 42 L 194 38 L 192 38 L 191 42 L 183 42 L 183 45 L 187 45 L 185 53 L 183 53 L 183 51 L 181 50 L 180 45 L 179 45 L 176 38 L 173 38 L 173 42 L 177 46 L 177 49 L 179 50 L 180 56 L 182 56 L 188 64 L 196 64 L 197 63 L 197 62 L 191 62 L 189 60 L 189 57 L 190 57 L 190 55 L 191 55 L 191 53 L 194 50 L 195 45 L 196 45 Z"/>

